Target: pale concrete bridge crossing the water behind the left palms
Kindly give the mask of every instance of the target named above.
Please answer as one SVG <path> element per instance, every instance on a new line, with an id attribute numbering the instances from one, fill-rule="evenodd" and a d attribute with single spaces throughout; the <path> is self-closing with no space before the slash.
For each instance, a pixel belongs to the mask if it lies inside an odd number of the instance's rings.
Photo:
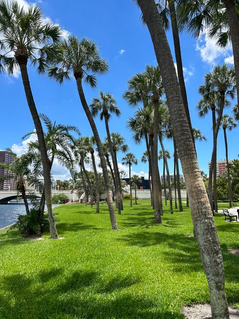
<path id="1" fill-rule="evenodd" d="M 32 193 L 32 190 L 27 190 L 26 193 L 27 195 L 30 195 L 30 193 Z M 34 191 L 34 194 L 37 197 L 41 197 L 41 193 L 38 191 Z M 67 195 L 67 198 L 70 201 L 78 201 L 78 196 L 75 191 L 72 193 L 71 190 L 52 190 L 51 194 L 52 196 L 54 194 L 65 194 Z M 7 204 L 10 200 L 17 199 L 17 198 L 21 198 L 21 195 L 19 194 L 18 196 L 18 193 L 16 190 L 1 190 L 0 191 L 0 204 Z"/>

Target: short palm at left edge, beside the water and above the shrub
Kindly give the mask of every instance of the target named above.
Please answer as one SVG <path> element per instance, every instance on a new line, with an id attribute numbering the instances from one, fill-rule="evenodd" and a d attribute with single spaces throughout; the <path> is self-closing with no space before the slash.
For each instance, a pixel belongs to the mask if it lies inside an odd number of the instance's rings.
<path id="1" fill-rule="evenodd" d="M 10 148 L 6 150 L 11 153 L 13 161 L 11 163 L 0 163 L 0 168 L 4 169 L 5 172 L 4 176 L 0 178 L 0 181 L 14 180 L 18 194 L 20 193 L 22 195 L 26 214 L 29 214 L 26 182 L 28 182 L 28 185 L 39 184 L 37 177 L 32 174 L 30 168 L 30 165 L 35 160 L 35 154 L 33 152 L 27 152 L 17 156 Z"/>

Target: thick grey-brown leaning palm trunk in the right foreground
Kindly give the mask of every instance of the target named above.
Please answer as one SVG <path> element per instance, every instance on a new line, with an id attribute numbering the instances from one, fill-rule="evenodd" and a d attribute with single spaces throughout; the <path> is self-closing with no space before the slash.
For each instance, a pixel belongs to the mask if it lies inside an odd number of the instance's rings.
<path id="1" fill-rule="evenodd" d="M 161 17 L 154 0 L 138 0 L 148 26 L 168 102 L 178 155 L 189 194 L 195 233 L 210 290 L 212 317 L 229 319 L 224 267 L 206 188 L 200 174 L 194 141 L 188 125 L 180 86 Z"/>

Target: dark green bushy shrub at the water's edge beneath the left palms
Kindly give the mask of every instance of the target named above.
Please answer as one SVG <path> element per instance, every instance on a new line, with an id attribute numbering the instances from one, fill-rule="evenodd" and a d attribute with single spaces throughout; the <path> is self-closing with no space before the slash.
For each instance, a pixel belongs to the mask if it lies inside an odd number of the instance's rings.
<path id="1" fill-rule="evenodd" d="M 40 235 L 42 232 L 49 230 L 48 216 L 39 216 L 39 210 L 31 208 L 28 215 L 19 215 L 17 223 L 14 226 L 21 235 Z"/>

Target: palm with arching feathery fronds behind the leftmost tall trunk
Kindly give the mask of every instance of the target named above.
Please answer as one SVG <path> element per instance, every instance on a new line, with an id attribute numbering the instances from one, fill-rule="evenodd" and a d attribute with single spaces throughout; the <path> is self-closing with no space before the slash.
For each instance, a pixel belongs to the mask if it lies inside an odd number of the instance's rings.
<path id="1" fill-rule="evenodd" d="M 52 122 L 46 115 L 39 114 L 39 118 L 43 121 L 46 126 L 47 132 L 44 133 L 45 138 L 45 145 L 47 149 L 47 156 L 49 162 L 49 169 L 51 172 L 52 165 L 54 159 L 65 166 L 71 172 L 72 176 L 74 176 L 75 168 L 74 168 L 74 157 L 73 157 L 73 147 L 75 144 L 75 139 L 71 134 L 71 131 L 80 134 L 78 128 L 72 125 L 64 125 L 64 124 L 56 124 Z M 23 139 L 31 134 L 35 134 L 35 131 L 27 133 L 23 136 Z M 39 153 L 39 142 L 34 141 L 28 143 L 29 151 L 34 151 Z M 35 168 L 38 169 L 36 166 L 39 163 L 36 163 Z M 40 200 L 40 216 L 42 217 L 44 214 L 44 207 L 45 207 L 45 192 L 43 186 L 43 192 L 41 195 Z"/>

